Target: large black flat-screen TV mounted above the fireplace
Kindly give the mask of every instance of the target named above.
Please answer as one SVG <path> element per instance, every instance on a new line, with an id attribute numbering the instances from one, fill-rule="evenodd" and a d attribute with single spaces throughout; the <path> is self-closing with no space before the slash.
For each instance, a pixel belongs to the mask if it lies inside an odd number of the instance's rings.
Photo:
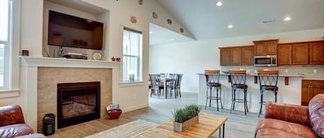
<path id="1" fill-rule="evenodd" d="M 50 10 L 48 45 L 102 49 L 104 23 Z"/>

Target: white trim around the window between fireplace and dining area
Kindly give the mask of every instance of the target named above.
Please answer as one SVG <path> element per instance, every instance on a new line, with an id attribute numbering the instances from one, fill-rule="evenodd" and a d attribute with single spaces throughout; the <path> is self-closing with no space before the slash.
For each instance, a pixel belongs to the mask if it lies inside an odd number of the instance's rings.
<path id="1" fill-rule="evenodd" d="M 128 28 L 129 30 L 136 30 L 137 32 L 142 32 L 142 41 L 140 41 L 140 56 L 138 56 L 138 60 L 137 62 L 139 62 L 139 72 L 140 72 L 140 79 L 139 80 L 134 80 L 134 82 L 128 82 L 128 80 L 124 80 L 124 67 L 123 64 L 121 64 L 122 66 L 122 71 L 121 71 L 121 80 L 122 82 L 120 82 L 120 87 L 132 87 L 132 86 L 140 86 L 140 85 L 144 85 L 144 81 L 143 81 L 143 47 L 144 47 L 144 32 L 142 30 L 137 29 L 136 27 L 127 27 L 125 25 L 122 25 L 122 40 L 124 40 L 124 30 L 125 28 Z M 122 42 L 122 49 L 124 49 L 124 41 Z M 124 50 L 122 50 L 122 56 L 131 56 L 131 55 L 124 55 Z M 137 56 L 136 56 L 137 57 Z M 124 58 L 122 58 L 122 60 L 124 60 Z M 123 62 L 123 61 L 122 61 Z"/>

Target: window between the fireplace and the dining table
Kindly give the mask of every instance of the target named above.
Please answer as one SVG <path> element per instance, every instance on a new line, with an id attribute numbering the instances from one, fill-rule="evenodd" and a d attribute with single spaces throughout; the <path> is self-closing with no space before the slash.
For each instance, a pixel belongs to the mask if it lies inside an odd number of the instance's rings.
<path id="1" fill-rule="evenodd" d="M 142 81 L 142 32 L 124 28 L 123 81 Z"/>

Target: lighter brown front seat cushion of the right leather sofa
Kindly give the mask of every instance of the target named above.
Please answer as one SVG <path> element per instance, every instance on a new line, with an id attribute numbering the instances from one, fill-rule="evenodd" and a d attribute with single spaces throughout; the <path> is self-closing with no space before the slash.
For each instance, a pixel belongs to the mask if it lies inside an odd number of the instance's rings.
<path id="1" fill-rule="evenodd" d="M 286 133 L 298 137 L 317 137 L 314 131 L 307 126 L 285 122 L 278 119 L 261 119 L 256 126 L 257 135 L 259 135 L 259 130 L 261 133 L 267 133 L 267 130 L 271 130 L 269 133 L 282 132 L 276 133 L 278 137 L 285 137 L 287 135 Z"/>

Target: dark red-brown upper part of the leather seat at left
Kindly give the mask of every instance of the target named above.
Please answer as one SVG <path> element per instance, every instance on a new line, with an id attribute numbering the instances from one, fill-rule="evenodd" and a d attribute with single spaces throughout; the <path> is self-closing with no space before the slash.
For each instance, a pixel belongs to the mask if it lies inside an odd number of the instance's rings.
<path id="1" fill-rule="evenodd" d="M 23 112 L 18 105 L 0 107 L 0 126 L 8 126 L 11 124 L 25 124 Z"/>

